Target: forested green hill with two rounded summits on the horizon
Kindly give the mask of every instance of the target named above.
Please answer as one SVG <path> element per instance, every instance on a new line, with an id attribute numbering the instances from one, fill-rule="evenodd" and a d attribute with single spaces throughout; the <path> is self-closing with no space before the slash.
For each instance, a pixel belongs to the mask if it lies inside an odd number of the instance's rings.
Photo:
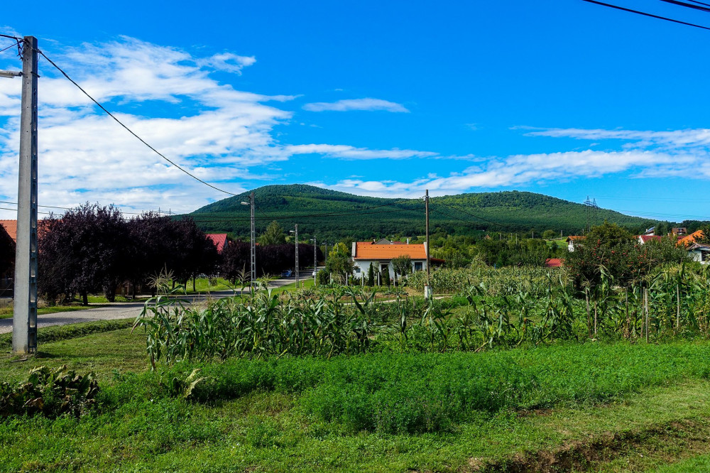
<path id="1" fill-rule="evenodd" d="M 256 232 L 277 220 L 285 229 L 298 224 L 299 234 L 315 234 L 323 241 L 367 240 L 392 235 L 422 235 L 425 229 L 423 199 L 364 197 L 310 185 L 267 185 L 254 190 Z M 206 205 L 190 214 L 207 232 L 229 232 L 249 237 L 249 193 Z M 432 234 L 475 235 L 482 232 L 529 232 L 552 229 L 579 234 L 586 225 L 581 204 L 533 192 L 480 192 L 430 199 Z M 591 223 L 594 224 L 592 214 Z M 597 209 L 596 222 L 616 222 L 634 232 L 655 221 Z"/>

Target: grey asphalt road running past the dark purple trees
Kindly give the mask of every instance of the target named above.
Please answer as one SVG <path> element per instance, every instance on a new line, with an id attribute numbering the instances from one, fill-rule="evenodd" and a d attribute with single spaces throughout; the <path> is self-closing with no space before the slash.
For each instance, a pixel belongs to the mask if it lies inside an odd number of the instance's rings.
<path id="1" fill-rule="evenodd" d="M 294 278 L 281 278 L 271 281 L 269 287 L 278 288 L 293 283 Z M 239 293 L 239 291 L 238 291 Z M 182 297 L 188 303 L 202 302 L 211 299 L 228 298 L 234 295 L 234 291 L 220 290 L 213 293 L 187 295 Z M 97 320 L 118 320 L 136 317 L 143 310 L 143 302 L 135 303 L 112 303 L 94 309 L 75 310 L 73 312 L 56 312 L 54 314 L 38 315 L 38 328 L 50 327 L 52 325 L 69 325 L 80 322 L 96 322 Z M 0 320 L 0 334 L 12 332 L 12 319 Z"/>

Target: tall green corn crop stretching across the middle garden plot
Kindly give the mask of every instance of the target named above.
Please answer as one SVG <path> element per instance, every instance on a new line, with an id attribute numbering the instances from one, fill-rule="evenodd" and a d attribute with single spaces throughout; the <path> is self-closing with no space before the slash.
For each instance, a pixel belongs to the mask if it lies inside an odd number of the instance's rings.
<path id="1" fill-rule="evenodd" d="M 378 302 L 363 288 L 286 295 L 261 288 L 200 309 L 163 297 L 146 304 L 135 325 L 146 330 L 153 363 L 710 335 L 707 268 L 666 268 L 628 287 L 603 273 L 601 283 L 579 290 L 560 271 L 510 268 L 469 273 L 461 286 L 428 301 L 394 293 Z"/>

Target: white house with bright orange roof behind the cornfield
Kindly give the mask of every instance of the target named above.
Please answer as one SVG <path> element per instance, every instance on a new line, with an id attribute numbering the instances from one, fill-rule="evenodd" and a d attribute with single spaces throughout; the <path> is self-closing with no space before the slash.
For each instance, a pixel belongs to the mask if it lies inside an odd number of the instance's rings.
<path id="1" fill-rule="evenodd" d="M 383 241 L 353 241 L 352 259 L 355 264 L 355 277 L 367 278 L 370 263 L 376 271 L 388 269 L 390 279 L 395 276 L 392 259 L 409 256 L 412 271 L 425 271 L 427 268 L 427 245 L 406 243 L 383 243 Z M 436 260 L 439 261 L 439 260 Z"/>

